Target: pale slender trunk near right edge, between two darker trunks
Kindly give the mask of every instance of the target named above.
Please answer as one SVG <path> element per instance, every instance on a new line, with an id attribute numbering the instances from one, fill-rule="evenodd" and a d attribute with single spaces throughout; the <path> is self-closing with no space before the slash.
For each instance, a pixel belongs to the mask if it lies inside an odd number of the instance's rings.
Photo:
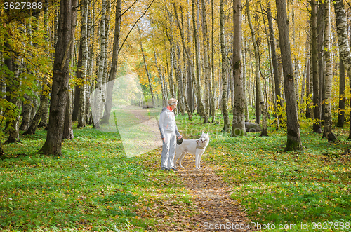
<path id="1" fill-rule="evenodd" d="M 326 61 L 326 71 L 324 76 L 326 99 L 323 137 L 329 138 L 331 133 L 331 23 L 330 23 L 330 0 L 324 0 L 324 60 Z"/>

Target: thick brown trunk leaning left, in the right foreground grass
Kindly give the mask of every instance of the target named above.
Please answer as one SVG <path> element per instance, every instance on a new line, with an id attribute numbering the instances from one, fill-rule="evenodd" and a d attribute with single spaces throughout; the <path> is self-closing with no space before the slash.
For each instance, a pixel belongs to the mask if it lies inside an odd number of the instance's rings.
<path id="1" fill-rule="evenodd" d="M 289 21 L 286 16 L 285 0 L 276 0 L 277 22 L 279 30 L 279 46 L 284 65 L 284 91 L 286 99 L 286 129 L 287 141 L 285 151 L 303 150 L 298 123 L 298 107 L 296 103 L 295 86 L 293 83 L 293 62 L 289 41 Z"/>

